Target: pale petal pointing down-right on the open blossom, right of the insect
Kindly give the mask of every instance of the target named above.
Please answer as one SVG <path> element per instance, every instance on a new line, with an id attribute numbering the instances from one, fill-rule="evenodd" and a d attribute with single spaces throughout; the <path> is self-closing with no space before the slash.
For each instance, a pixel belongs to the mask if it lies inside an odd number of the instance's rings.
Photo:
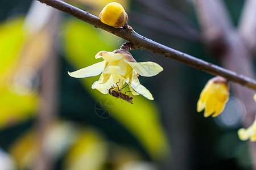
<path id="1" fill-rule="evenodd" d="M 135 73 L 133 74 L 133 79 L 131 80 L 131 87 L 147 99 L 154 100 L 150 91 L 148 91 L 146 87 L 142 86 L 141 83 L 139 83 L 139 79 L 137 78 Z"/>

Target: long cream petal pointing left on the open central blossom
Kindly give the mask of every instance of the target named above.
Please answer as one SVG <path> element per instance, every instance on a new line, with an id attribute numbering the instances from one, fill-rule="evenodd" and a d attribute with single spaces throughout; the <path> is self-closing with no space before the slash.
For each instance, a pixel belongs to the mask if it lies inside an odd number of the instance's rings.
<path id="1" fill-rule="evenodd" d="M 86 78 L 89 76 L 96 76 L 101 74 L 102 71 L 104 70 L 105 62 L 106 61 L 98 62 L 98 63 L 95 63 L 94 65 L 82 68 L 77 71 L 73 71 L 71 73 L 68 71 L 68 74 L 75 78 Z"/>

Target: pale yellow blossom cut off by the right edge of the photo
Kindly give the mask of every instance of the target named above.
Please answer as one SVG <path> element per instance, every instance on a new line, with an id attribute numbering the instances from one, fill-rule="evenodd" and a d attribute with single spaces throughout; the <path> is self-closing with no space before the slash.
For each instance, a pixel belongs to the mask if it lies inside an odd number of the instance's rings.
<path id="1" fill-rule="evenodd" d="M 254 95 L 254 100 L 256 101 L 256 94 Z M 256 119 L 254 120 L 253 124 L 247 129 L 241 128 L 238 130 L 238 137 L 242 141 L 246 141 L 247 139 L 250 139 L 251 142 L 256 141 Z"/>

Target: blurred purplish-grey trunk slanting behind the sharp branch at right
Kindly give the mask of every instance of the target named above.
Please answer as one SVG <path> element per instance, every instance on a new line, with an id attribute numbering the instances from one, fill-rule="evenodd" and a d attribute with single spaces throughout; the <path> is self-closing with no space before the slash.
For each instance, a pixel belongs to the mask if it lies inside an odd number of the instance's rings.
<path id="1" fill-rule="evenodd" d="M 217 52 L 223 65 L 230 70 L 254 78 L 253 61 L 249 48 L 247 48 L 247 45 L 242 41 L 236 29 L 232 27 L 232 25 L 227 24 L 229 20 L 227 20 L 228 14 L 225 11 L 224 3 L 220 0 L 196 0 L 195 4 L 203 33 L 207 35 L 209 29 L 215 27 L 217 28 L 216 31 L 218 35 L 221 35 L 220 40 L 222 41 L 215 41 L 215 43 L 217 46 L 220 46 L 220 48 L 221 46 L 225 48 Z M 256 10 L 256 8 L 254 8 L 254 10 Z M 206 41 L 214 41 L 213 36 L 204 37 L 207 39 Z M 255 92 L 247 88 L 241 88 L 241 86 L 237 86 L 237 84 L 233 84 L 232 90 L 245 105 L 246 118 L 243 124 L 245 127 L 248 127 L 255 118 L 256 105 L 255 101 L 253 101 Z M 256 144 L 251 143 L 250 145 L 250 152 L 253 157 L 253 169 L 256 169 Z"/>

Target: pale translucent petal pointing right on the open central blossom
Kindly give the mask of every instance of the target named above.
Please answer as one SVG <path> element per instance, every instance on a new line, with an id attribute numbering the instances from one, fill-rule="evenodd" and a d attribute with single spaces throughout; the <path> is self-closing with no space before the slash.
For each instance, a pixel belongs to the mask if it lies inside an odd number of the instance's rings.
<path id="1" fill-rule="evenodd" d="M 158 63 L 147 61 L 147 62 L 129 62 L 124 59 L 139 75 L 142 76 L 154 76 L 163 71 L 163 67 Z"/>

